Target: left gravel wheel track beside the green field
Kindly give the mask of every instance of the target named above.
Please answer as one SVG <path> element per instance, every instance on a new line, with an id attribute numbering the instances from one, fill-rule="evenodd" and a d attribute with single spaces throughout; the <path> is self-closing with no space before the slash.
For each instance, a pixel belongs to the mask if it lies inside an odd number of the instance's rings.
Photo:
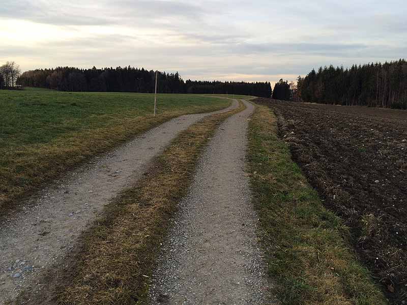
<path id="1" fill-rule="evenodd" d="M 238 107 L 234 101 L 224 112 Z M 214 112 L 213 112 L 214 113 Z M 182 130 L 211 113 L 172 119 L 69 172 L 27 202 L 24 210 L 0 223 L 0 304 L 37 284 L 73 248 L 76 238 L 103 207 L 147 170 L 151 160 Z"/>

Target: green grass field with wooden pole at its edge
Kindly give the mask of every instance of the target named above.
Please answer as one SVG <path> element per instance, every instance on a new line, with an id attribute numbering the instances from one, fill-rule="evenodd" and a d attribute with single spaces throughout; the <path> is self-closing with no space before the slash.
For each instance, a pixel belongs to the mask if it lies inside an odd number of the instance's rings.
<path id="1" fill-rule="evenodd" d="M 219 97 L 0 90 L 0 214 L 16 198 L 173 117 L 214 111 Z"/>

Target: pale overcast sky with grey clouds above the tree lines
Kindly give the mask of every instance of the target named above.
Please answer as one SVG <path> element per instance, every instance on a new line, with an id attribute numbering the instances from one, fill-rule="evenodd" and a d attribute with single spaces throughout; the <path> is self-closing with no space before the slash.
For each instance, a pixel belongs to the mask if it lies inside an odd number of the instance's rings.
<path id="1" fill-rule="evenodd" d="M 319 66 L 406 57 L 406 13 L 405 0 L 13 0 L 0 5 L 0 64 L 294 80 Z"/>

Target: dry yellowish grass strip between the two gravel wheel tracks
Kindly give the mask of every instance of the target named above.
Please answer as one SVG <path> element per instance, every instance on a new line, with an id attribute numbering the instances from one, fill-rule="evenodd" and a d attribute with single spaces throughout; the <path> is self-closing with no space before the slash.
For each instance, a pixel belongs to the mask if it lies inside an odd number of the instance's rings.
<path id="1" fill-rule="evenodd" d="M 199 154 L 216 128 L 245 106 L 209 116 L 180 133 L 148 175 L 123 192 L 83 237 L 57 287 L 61 304 L 134 304 L 145 300 L 155 253 Z M 53 279 L 55 281 L 55 278 Z M 65 284 L 64 284 L 65 283 Z"/>

